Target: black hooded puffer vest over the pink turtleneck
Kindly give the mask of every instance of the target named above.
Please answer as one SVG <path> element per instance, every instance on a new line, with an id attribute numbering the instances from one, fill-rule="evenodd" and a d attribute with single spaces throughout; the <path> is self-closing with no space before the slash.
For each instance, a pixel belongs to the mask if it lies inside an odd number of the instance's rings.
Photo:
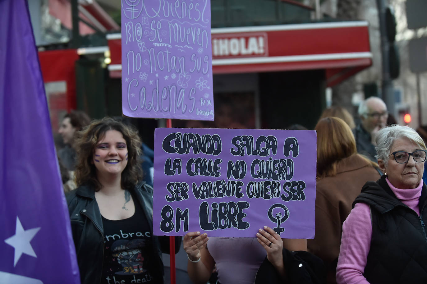
<path id="1" fill-rule="evenodd" d="M 354 204 L 371 208 L 372 239 L 365 273 L 371 284 L 427 283 L 427 187 L 419 199 L 420 216 L 400 202 L 382 176 L 367 182 Z"/>

